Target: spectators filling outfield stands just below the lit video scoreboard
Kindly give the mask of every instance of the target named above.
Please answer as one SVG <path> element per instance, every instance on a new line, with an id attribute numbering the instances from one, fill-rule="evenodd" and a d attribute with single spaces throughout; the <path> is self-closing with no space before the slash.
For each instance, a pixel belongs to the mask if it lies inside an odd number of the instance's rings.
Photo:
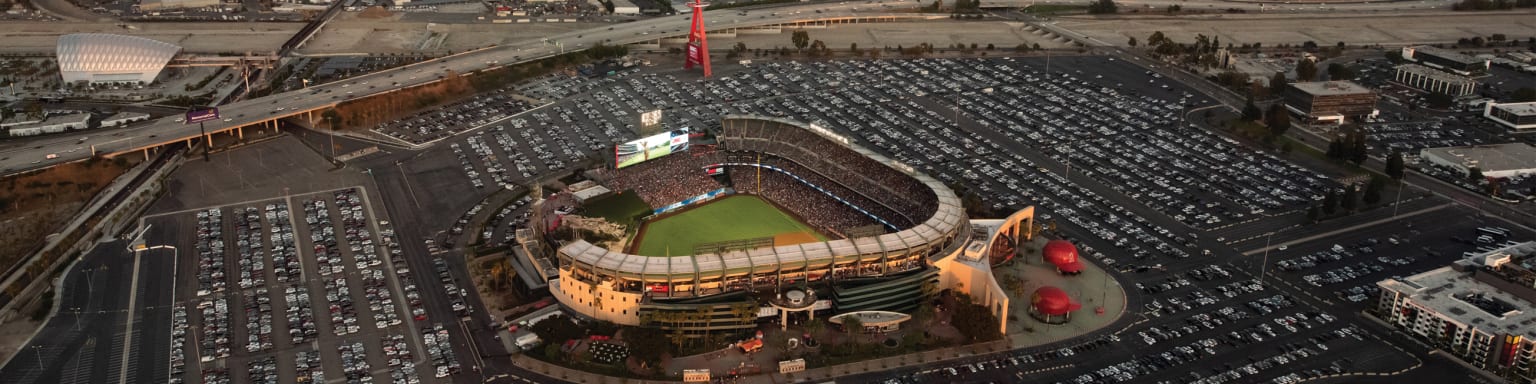
<path id="1" fill-rule="evenodd" d="M 610 177 L 602 181 L 608 189 L 634 190 L 641 200 L 645 200 L 645 204 L 662 207 L 720 189 L 720 183 L 703 172 L 705 166 L 716 164 L 719 160 L 720 154 L 710 149 L 694 149 L 594 175 Z"/>

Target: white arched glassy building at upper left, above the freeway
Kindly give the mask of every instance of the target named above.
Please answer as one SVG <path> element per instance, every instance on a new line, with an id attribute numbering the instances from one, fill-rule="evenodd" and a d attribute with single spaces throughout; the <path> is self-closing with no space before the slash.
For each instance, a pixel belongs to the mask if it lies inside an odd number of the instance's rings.
<path id="1" fill-rule="evenodd" d="M 68 34 L 58 37 L 58 74 L 65 83 L 143 81 L 160 77 L 180 52 L 177 45 L 114 34 Z"/>

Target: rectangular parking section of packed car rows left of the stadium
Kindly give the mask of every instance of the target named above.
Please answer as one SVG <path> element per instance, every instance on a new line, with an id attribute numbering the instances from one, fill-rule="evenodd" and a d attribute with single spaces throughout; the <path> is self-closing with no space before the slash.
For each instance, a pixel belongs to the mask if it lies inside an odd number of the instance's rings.
<path id="1" fill-rule="evenodd" d="M 180 230 L 174 382 L 421 382 L 419 293 L 361 189 L 154 217 Z M 393 260 L 395 263 L 392 263 Z M 416 324 L 416 326 L 413 326 Z M 323 346 L 323 347 L 316 347 Z M 425 370 L 425 372 L 422 372 Z"/>

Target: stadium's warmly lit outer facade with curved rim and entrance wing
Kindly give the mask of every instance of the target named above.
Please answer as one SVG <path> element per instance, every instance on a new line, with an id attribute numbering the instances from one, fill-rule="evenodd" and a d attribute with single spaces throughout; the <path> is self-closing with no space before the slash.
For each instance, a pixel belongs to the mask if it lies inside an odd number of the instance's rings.
<path id="1" fill-rule="evenodd" d="M 558 278 L 550 292 L 570 312 L 625 326 L 684 330 L 745 330 L 779 319 L 774 296 L 786 290 L 814 292 L 814 312 L 911 312 L 922 300 L 945 289 L 969 293 L 988 306 L 1006 329 L 1008 296 L 991 276 L 988 247 L 1003 238 L 1017 244 L 1034 226 L 1034 207 L 1005 220 L 974 226 L 960 198 L 938 180 L 869 152 L 814 124 L 773 117 L 725 117 L 720 144 L 727 151 L 757 152 L 797 161 L 819 154 L 776 140 L 779 129 L 814 132 L 877 161 L 923 186 L 932 201 L 900 230 L 822 243 L 765 246 L 685 257 L 642 257 L 574 240 L 559 247 Z M 803 132 L 797 132 L 802 134 Z M 817 143 L 828 144 L 828 143 Z M 817 160 L 808 160 L 811 163 Z M 837 163 L 805 164 L 837 166 Z M 871 180 L 865 180 L 871 181 Z M 851 183 L 851 181 L 840 181 Z M 852 189 L 857 190 L 857 189 Z M 1006 247 L 1012 252 L 1014 247 Z"/>

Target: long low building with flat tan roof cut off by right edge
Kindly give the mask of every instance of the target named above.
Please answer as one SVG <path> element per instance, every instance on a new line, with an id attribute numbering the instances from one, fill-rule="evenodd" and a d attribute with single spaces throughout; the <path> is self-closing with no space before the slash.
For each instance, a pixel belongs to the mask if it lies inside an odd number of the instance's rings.
<path id="1" fill-rule="evenodd" d="M 1425 147 L 1419 158 L 1465 174 L 1476 167 L 1484 177 L 1536 174 L 1536 147 L 1525 143 Z"/>

